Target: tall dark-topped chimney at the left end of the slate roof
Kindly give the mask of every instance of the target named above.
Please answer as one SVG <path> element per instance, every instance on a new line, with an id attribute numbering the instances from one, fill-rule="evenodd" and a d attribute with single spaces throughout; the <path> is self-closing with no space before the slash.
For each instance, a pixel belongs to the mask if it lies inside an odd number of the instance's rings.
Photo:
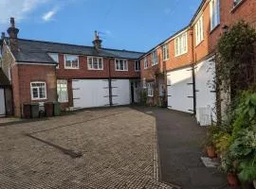
<path id="1" fill-rule="evenodd" d="M 9 34 L 9 47 L 10 50 L 13 52 L 18 51 L 18 33 L 19 29 L 15 27 L 15 21 L 14 18 L 10 18 L 10 26 L 8 28 L 8 34 Z"/>

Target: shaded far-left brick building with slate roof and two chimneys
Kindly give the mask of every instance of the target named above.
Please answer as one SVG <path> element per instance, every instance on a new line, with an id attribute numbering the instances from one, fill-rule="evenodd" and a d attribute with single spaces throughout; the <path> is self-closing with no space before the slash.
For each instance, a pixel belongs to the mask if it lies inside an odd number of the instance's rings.
<path id="1" fill-rule="evenodd" d="M 94 46 L 24 40 L 18 32 L 11 18 L 1 50 L 14 115 L 33 102 L 59 101 L 63 110 L 138 102 L 142 53 L 102 48 L 97 32 Z"/>

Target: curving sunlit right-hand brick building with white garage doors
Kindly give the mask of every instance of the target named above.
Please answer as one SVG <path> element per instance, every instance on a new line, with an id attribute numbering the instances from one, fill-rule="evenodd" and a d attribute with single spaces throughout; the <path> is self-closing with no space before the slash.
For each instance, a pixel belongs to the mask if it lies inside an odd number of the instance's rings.
<path id="1" fill-rule="evenodd" d="M 254 12 L 254 0 L 203 0 L 188 26 L 141 57 L 148 103 L 157 104 L 159 95 L 165 94 L 168 108 L 196 114 L 201 125 L 216 120 L 216 44 L 224 28 L 239 20 L 256 26 Z"/>

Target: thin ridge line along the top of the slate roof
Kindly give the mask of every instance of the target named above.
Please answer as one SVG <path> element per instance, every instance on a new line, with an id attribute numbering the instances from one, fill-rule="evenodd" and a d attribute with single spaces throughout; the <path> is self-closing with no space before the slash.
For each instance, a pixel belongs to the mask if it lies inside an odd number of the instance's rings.
<path id="1" fill-rule="evenodd" d="M 39 40 L 27 40 L 27 39 L 23 39 L 23 38 L 19 38 L 18 40 L 20 40 L 20 41 L 27 41 L 27 42 L 36 42 L 36 43 L 63 44 L 63 45 L 70 45 L 70 46 L 94 48 L 93 46 L 82 45 L 82 44 L 58 43 L 58 42 L 48 42 L 48 41 L 39 41 Z M 119 49 L 114 49 L 114 48 L 101 48 L 101 49 L 102 50 L 114 50 L 114 51 L 119 51 L 119 52 L 131 52 L 131 53 L 141 53 L 141 54 L 144 54 L 144 52 L 137 52 L 137 51 L 132 51 L 132 50 L 119 50 Z"/>

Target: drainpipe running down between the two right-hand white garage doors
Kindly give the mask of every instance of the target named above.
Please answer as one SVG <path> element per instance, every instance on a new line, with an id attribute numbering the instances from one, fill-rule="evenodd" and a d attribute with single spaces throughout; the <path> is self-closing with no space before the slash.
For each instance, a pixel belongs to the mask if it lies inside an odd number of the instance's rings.
<path id="1" fill-rule="evenodd" d="M 192 37 L 192 99 L 193 99 L 193 114 L 196 115 L 196 87 L 195 87 L 195 73 L 194 73 L 194 42 L 193 42 L 193 30 L 191 28 Z"/>

